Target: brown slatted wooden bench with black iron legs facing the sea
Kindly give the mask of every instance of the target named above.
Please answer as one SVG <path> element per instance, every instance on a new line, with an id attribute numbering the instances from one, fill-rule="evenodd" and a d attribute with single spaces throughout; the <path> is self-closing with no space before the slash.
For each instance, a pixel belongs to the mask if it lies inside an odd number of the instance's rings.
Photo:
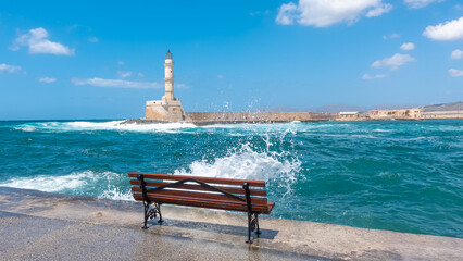
<path id="1" fill-rule="evenodd" d="M 248 213 L 248 244 L 251 232 L 261 234 L 259 214 L 270 214 L 275 203 L 267 202 L 265 182 L 234 178 L 182 176 L 129 172 L 134 199 L 142 201 L 145 225 L 159 215 L 161 204 L 177 204 L 207 209 L 232 210 Z M 251 188 L 253 187 L 253 188 Z"/>

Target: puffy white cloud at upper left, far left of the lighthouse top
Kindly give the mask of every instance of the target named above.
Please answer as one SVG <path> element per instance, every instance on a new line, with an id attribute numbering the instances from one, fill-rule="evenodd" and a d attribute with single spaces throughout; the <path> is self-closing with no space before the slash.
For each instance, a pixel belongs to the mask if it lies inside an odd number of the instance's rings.
<path id="1" fill-rule="evenodd" d="M 50 41 L 49 37 L 50 34 L 42 27 L 30 29 L 29 33 L 17 37 L 10 49 L 17 51 L 22 46 L 27 46 L 32 54 L 73 55 L 75 53 L 75 49 L 70 49 L 60 42 Z"/>

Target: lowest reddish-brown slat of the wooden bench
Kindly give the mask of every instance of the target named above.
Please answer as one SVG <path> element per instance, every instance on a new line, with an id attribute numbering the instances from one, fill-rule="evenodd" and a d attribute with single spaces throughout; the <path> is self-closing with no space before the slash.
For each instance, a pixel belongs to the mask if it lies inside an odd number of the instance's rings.
<path id="1" fill-rule="evenodd" d="M 143 200 L 143 196 L 141 194 L 134 194 L 134 199 L 138 201 Z M 236 203 L 230 201 L 221 201 L 221 200 L 212 200 L 212 199 L 191 199 L 187 197 L 176 197 L 176 196 L 164 196 L 164 195 L 149 195 L 148 199 L 150 201 L 157 203 L 166 203 L 166 204 L 179 204 L 179 206 L 188 206 L 188 207 L 198 207 L 198 208 L 209 208 L 209 209 L 218 209 L 218 210 L 230 210 L 230 211 L 241 211 L 247 212 L 248 207 L 246 203 Z M 274 203 L 263 204 L 253 204 L 252 211 L 270 214 Z"/>

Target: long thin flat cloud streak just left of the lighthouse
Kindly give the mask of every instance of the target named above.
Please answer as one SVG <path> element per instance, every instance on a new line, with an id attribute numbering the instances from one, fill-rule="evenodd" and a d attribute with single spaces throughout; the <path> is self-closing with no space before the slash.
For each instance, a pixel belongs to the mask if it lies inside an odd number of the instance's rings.
<path id="1" fill-rule="evenodd" d="M 162 86 L 158 83 L 149 82 L 132 82 L 124 79 L 103 79 L 103 78 L 73 78 L 71 82 L 74 85 L 90 85 L 95 87 L 114 87 L 114 88 L 133 88 L 133 89 L 159 89 Z"/>

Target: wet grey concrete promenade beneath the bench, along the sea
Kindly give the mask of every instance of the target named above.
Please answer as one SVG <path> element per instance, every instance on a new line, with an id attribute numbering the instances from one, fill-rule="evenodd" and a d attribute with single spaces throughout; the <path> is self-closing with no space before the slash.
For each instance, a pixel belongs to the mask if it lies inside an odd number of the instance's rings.
<path id="1" fill-rule="evenodd" d="M 461 260 L 463 239 L 0 187 L 0 260 Z"/>

